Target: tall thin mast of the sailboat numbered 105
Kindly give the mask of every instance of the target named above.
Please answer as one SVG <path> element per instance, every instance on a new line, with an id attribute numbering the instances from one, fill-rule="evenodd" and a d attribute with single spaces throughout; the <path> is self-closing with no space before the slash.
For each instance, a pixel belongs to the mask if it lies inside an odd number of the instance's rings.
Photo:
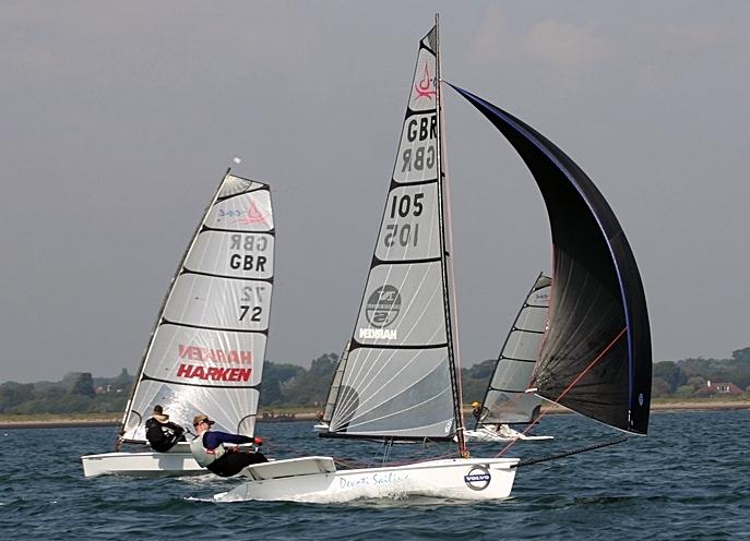
<path id="1" fill-rule="evenodd" d="M 459 445 L 459 454 L 465 456 L 466 441 L 464 437 L 464 419 L 461 411 L 461 388 L 459 385 L 460 378 L 460 363 L 457 344 L 456 344 L 456 326 L 455 326 L 455 292 L 451 290 L 453 284 L 453 242 L 451 219 L 449 212 L 449 189 L 448 175 L 445 173 L 443 156 L 445 149 L 445 134 L 443 130 L 443 107 L 442 107 L 442 92 L 441 92 L 441 65 L 440 65 L 440 15 L 434 14 L 436 28 L 436 106 L 438 115 L 438 201 L 439 201 L 439 224 L 440 224 L 440 242 L 441 242 L 441 262 L 443 275 L 443 301 L 445 303 L 445 329 L 448 338 L 448 356 L 449 369 L 451 373 L 451 386 L 453 390 L 453 411 L 455 417 L 455 432 Z"/>

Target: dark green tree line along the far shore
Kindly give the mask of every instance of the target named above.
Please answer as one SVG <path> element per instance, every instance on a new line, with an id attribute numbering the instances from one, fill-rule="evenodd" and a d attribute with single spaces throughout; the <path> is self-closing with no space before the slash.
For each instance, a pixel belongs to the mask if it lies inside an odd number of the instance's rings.
<path id="1" fill-rule="evenodd" d="M 462 369 L 464 402 L 481 400 L 492 375 L 495 359 Z M 261 408 L 318 408 L 325 404 L 336 353 L 312 360 L 309 369 L 298 364 L 265 361 Z M 734 383 L 750 396 L 750 347 L 731 352 L 730 359 L 682 359 L 654 363 L 654 397 L 700 396 L 707 381 Z M 0 384 L 0 413 L 121 413 L 134 377 L 122 369 L 115 377 L 94 377 L 90 372 L 72 372 L 60 382 Z"/>

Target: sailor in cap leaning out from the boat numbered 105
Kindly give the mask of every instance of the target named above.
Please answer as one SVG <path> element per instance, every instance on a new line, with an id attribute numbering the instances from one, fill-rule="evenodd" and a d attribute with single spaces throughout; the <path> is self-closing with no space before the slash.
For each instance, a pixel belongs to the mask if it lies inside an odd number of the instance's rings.
<path id="1" fill-rule="evenodd" d="M 190 442 L 190 452 L 200 466 L 219 477 L 231 477 L 251 464 L 267 462 L 265 456 L 257 447 L 250 450 L 237 447 L 237 445 L 248 443 L 255 446 L 262 445 L 263 441 L 260 437 L 212 431 L 211 425 L 214 422 L 204 414 L 193 418 L 193 426 L 198 435 Z"/>

